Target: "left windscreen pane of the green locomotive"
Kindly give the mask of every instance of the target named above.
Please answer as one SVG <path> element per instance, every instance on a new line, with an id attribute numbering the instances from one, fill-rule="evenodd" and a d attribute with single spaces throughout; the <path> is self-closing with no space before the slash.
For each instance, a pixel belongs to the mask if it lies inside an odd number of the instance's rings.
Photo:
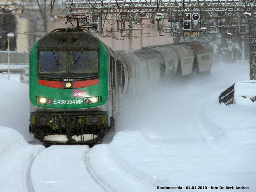
<path id="1" fill-rule="evenodd" d="M 67 52 L 41 51 L 39 73 L 67 73 Z"/>

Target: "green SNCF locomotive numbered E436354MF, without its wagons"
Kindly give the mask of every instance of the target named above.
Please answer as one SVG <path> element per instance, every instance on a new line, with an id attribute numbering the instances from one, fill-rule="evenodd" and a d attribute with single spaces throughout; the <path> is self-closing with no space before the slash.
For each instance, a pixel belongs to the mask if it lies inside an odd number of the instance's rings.
<path id="1" fill-rule="evenodd" d="M 111 49 L 84 29 L 58 29 L 41 38 L 29 59 L 29 132 L 45 145 L 102 141 L 115 129 L 118 106 L 109 100 L 122 92 L 116 81 L 124 79 L 122 66 L 115 60 Z"/>

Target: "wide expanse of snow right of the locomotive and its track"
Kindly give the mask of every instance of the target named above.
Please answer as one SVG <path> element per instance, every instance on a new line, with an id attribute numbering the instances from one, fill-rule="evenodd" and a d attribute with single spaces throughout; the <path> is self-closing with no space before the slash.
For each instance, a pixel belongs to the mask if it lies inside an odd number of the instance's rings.
<path id="1" fill-rule="evenodd" d="M 195 78 L 129 99 L 119 124 L 127 131 L 89 152 L 94 174 L 110 190 L 122 192 L 157 191 L 157 186 L 181 191 L 198 191 L 186 186 L 210 187 L 207 191 L 243 186 L 254 192 L 255 104 L 218 102 L 234 79 L 248 77 L 244 69 L 222 64 L 213 67 L 209 80 Z"/>

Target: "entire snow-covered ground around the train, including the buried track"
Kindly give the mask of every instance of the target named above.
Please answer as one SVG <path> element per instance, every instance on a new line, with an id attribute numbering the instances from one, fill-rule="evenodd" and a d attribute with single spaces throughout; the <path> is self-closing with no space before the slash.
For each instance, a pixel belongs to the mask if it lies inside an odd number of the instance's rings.
<path id="1" fill-rule="evenodd" d="M 214 65 L 209 78 L 127 98 L 113 140 L 91 149 L 26 143 L 28 85 L 0 74 L 0 191 L 256 191 L 255 104 L 218 102 L 234 81 L 248 80 L 248 65 Z M 157 189 L 164 186 L 182 189 Z"/>

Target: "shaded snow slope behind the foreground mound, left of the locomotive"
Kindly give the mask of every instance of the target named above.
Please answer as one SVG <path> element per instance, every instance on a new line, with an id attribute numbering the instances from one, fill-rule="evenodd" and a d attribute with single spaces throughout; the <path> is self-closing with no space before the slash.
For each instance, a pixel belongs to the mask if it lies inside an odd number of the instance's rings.
<path id="1" fill-rule="evenodd" d="M 34 136 L 28 132 L 29 85 L 20 82 L 20 74 L 10 74 L 8 80 L 8 74 L 0 73 L 0 82 L 0 126 L 10 127 L 26 141 L 33 141 Z"/>

